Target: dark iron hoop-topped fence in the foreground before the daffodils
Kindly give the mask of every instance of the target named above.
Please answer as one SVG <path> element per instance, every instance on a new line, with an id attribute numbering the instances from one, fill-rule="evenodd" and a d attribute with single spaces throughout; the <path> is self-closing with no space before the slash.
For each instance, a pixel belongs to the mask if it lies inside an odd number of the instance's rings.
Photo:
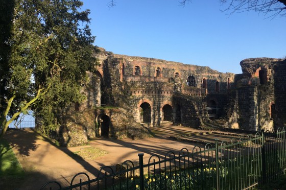
<path id="1" fill-rule="evenodd" d="M 152 155 L 144 164 L 127 160 L 103 167 L 97 178 L 79 173 L 70 186 L 51 181 L 42 189 L 256 189 L 258 183 L 277 179 L 286 169 L 286 129 L 256 133 L 231 141 L 183 148 L 178 155 Z"/>

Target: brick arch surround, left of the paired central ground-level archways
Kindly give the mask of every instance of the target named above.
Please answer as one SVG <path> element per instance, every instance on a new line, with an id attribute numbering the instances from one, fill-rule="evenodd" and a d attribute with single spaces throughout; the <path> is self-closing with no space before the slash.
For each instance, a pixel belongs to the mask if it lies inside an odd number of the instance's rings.
<path id="1" fill-rule="evenodd" d="M 147 104 L 144 104 L 144 103 L 147 103 Z M 143 106 L 141 106 L 142 104 L 144 104 Z M 150 110 L 149 110 L 149 108 L 150 108 Z M 153 104 L 152 104 L 152 102 L 150 101 L 150 100 L 148 100 L 148 99 L 144 99 L 144 100 L 140 100 L 139 102 L 138 102 L 138 104 L 137 104 L 137 118 L 136 118 L 136 121 L 137 122 L 139 122 L 139 123 L 145 123 L 144 122 L 144 117 L 142 117 L 143 115 L 142 114 L 144 114 L 144 112 L 142 112 L 142 111 L 144 111 L 144 109 L 145 109 L 145 118 L 146 118 L 146 121 L 148 121 L 148 122 L 146 122 L 146 123 L 153 123 L 153 121 L 152 121 L 152 116 L 153 116 Z M 149 113 L 149 111 L 150 111 L 150 113 Z M 149 116 L 148 115 L 150 115 L 150 120 L 149 120 Z"/>

